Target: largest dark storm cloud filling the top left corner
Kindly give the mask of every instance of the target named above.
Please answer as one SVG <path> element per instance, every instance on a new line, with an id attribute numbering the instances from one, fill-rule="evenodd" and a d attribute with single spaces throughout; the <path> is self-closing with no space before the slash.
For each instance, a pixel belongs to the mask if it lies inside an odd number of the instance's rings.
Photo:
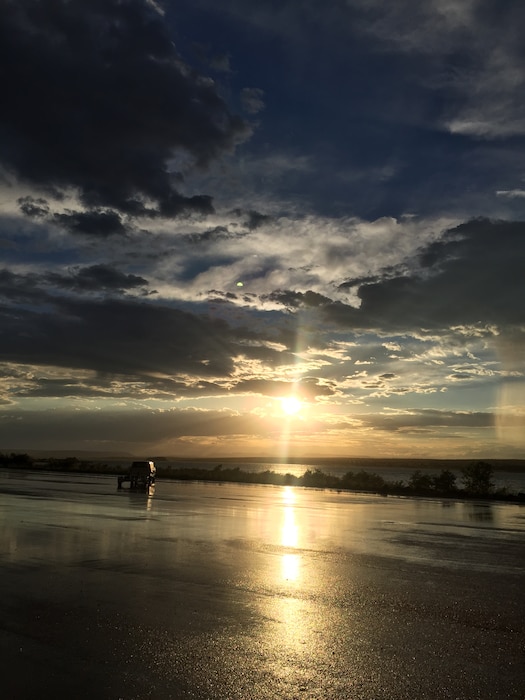
<path id="1" fill-rule="evenodd" d="M 209 197 L 175 189 L 170 159 L 204 167 L 249 134 L 145 0 L 6 0 L 0 65 L 2 165 L 89 207 L 207 214 Z M 22 203 L 30 215 L 39 205 Z"/>

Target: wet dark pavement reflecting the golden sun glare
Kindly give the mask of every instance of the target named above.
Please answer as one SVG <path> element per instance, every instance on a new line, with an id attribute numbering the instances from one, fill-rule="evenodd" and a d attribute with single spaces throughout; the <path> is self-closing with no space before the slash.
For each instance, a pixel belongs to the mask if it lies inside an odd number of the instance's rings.
<path id="1" fill-rule="evenodd" d="M 6 698 L 525 698 L 525 507 L 0 472 Z"/>

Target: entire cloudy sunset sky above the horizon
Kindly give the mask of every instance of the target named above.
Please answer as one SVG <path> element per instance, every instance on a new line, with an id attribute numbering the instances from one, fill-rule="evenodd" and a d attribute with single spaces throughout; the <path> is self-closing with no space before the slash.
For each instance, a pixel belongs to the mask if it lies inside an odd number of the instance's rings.
<path id="1" fill-rule="evenodd" d="M 519 0 L 1 0 L 0 450 L 523 458 Z"/>

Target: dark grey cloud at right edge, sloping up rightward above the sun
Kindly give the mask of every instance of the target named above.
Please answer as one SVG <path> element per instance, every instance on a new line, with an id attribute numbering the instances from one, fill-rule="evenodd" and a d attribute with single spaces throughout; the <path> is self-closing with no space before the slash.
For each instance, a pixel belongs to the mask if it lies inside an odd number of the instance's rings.
<path id="1" fill-rule="evenodd" d="M 412 274 L 362 285 L 359 309 L 332 304 L 325 313 L 384 331 L 521 324 L 524 260 L 525 223 L 472 220 L 422 251 Z"/>

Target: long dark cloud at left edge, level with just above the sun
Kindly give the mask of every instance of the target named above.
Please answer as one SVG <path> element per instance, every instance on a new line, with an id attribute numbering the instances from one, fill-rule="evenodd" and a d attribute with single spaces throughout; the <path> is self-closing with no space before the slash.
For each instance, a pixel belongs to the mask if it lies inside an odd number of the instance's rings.
<path id="1" fill-rule="evenodd" d="M 134 301 L 47 299 L 30 309 L 0 308 L 0 359 L 127 375 L 224 376 L 256 334 L 224 321 Z"/>

